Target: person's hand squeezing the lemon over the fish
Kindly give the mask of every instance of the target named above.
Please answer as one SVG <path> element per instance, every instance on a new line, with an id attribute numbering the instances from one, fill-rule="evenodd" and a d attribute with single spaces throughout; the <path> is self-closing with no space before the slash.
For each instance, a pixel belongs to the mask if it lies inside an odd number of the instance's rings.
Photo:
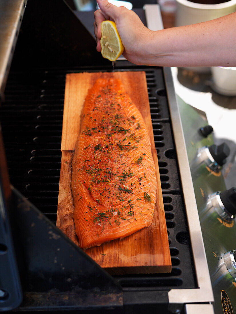
<path id="1" fill-rule="evenodd" d="M 101 23 L 105 20 L 112 20 L 121 36 L 125 47 L 123 56 L 136 64 L 145 64 L 147 57 L 146 43 L 151 38 L 152 31 L 139 19 L 138 15 L 125 7 L 116 7 L 107 0 L 97 0 L 100 7 L 94 12 L 94 34 L 97 41 L 97 51 L 101 51 Z"/>

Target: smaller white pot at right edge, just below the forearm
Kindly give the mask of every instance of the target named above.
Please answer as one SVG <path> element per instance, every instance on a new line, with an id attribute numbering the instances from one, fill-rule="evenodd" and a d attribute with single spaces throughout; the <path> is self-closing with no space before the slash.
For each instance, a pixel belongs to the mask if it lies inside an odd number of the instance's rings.
<path id="1" fill-rule="evenodd" d="M 236 95 L 236 68 L 212 67 L 211 72 L 212 89 L 222 95 Z"/>

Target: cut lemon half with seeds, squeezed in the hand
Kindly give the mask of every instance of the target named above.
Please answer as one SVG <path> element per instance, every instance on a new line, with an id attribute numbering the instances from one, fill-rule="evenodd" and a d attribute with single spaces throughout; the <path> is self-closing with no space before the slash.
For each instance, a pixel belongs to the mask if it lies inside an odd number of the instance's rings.
<path id="1" fill-rule="evenodd" d="M 110 61 L 115 61 L 125 50 L 115 22 L 103 21 L 101 31 L 102 56 Z"/>

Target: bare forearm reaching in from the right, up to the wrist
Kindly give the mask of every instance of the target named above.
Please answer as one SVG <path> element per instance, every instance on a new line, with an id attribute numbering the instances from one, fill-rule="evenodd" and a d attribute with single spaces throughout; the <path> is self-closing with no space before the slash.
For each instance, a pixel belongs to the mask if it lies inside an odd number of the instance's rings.
<path id="1" fill-rule="evenodd" d="M 150 32 L 137 63 L 236 67 L 236 13 L 212 21 Z"/>

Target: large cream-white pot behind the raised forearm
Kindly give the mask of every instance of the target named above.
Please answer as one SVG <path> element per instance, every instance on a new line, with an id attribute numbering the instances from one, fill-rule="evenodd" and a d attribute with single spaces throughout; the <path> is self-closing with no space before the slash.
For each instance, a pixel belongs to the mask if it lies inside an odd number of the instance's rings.
<path id="1" fill-rule="evenodd" d="M 236 0 L 219 4 L 201 4 L 188 0 L 177 0 L 175 26 L 183 26 L 210 21 L 236 11 Z M 210 67 L 191 67 L 198 73 L 210 73 Z"/>

